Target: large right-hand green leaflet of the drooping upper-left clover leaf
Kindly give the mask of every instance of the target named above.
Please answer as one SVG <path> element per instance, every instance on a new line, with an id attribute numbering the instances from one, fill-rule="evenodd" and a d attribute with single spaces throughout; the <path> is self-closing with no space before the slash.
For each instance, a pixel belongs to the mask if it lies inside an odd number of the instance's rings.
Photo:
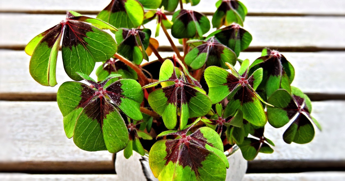
<path id="1" fill-rule="evenodd" d="M 79 32 L 87 29 L 88 31 Z M 106 32 L 86 23 L 70 23 L 65 27 L 62 40 L 62 61 L 67 75 L 76 81 L 81 78 L 75 72 L 90 74 L 95 63 L 110 59 L 117 50 L 115 40 Z"/>

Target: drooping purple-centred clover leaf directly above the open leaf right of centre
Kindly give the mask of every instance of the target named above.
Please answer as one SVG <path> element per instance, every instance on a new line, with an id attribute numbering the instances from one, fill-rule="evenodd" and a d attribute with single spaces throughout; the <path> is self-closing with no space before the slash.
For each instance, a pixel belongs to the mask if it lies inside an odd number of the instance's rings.
<path id="1" fill-rule="evenodd" d="M 228 47 L 219 43 L 214 37 L 203 44 L 192 49 L 185 57 L 185 62 L 194 70 L 200 69 L 206 63 L 206 66 L 218 66 L 227 68 L 225 62 L 235 65 L 237 56 Z"/>

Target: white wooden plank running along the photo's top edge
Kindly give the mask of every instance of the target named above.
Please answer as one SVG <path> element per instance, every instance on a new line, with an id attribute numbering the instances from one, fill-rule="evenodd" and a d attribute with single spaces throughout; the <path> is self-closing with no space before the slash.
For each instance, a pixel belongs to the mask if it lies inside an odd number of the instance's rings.
<path id="1" fill-rule="evenodd" d="M 214 12 L 218 0 L 201 0 L 197 6 L 184 5 L 185 9 L 200 12 Z M 42 10 L 77 10 L 98 12 L 109 4 L 108 1 L 83 0 L 83 1 L 46 1 L 46 0 L 12 0 L 1 1 L 0 11 L 42 11 Z M 242 0 L 249 13 L 273 14 L 345 14 L 343 0 Z M 320 8 L 322 7 L 322 8 Z"/>

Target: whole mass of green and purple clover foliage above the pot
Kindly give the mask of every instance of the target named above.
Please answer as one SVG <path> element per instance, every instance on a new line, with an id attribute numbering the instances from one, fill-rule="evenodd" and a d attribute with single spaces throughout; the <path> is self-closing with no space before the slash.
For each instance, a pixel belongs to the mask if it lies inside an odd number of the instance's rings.
<path id="1" fill-rule="evenodd" d="M 307 95 L 290 86 L 295 71 L 287 59 L 270 49 L 252 64 L 238 59 L 252 41 L 242 27 L 246 7 L 218 1 L 211 20 L 216 30 L 205 36 L 208 17 L 183 3 L 199 0 L 112 0 L 97 18 L 68 11 L 66 20 L 29 42 L 29 69 L 38 83 L 57 84 L 61 39 L 66 73 L 85 82 L 64 82 L 57 93 L 67 137 L 87 151 L 124 150 L 126 158 L 149 152 L 160 181 L 225 180 L 225 147 L 237 144 L 247 160 L 273 152 L 264 136 L 267 121 L 275 128 L 292 122 L 286 143 L 310 142 L 314 124 L 321 127 Z M 171 20 L 165 9 L 174 12 Z M 152 20 L 155 37 L 162 28 L 176 55 L 160 56 L 158 41 L 144 27 Z M 183 56 L 167 29 L 181 40 Z M 152 53 L 158 60 L 142 63 Z M 89 77 L 96 62 L 102 62 L 97 81 Z"/>

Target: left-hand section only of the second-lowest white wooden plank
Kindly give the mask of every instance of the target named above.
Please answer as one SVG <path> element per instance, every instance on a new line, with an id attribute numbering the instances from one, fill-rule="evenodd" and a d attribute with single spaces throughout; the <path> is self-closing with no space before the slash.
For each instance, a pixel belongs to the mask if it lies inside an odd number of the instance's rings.
<path id="1" fill-rule="evenodd" d="M 79 149 L 63 131 L 62 114 L 56 102 L 0 102 L 1 163 L 85 162 L 83 167 L 106 163 L 112 165 L 108 151 Z M 1 165 L 1 164 L 0 164 Z M 6 165 L 6 164 L 5 164 Z M 2 169 L 7 169 L 1 165 Z M 20 167 L 25 166 L 21 165 Z M 54 166 L 54 165 L 52 165 Z M 69 165 L 56 165 L 76 169 Z"/>

